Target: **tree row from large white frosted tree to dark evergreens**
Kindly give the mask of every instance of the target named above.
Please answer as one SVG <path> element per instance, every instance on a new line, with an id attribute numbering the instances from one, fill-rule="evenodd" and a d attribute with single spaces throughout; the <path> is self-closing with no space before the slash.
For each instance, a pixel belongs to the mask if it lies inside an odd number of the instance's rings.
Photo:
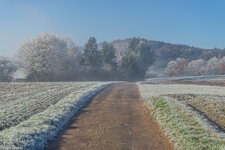
<path id="1" fill-rule="evenodd" d="M 111 43 L 99 46 L 90 37 L 83 47 L 78 47 L 69 37 L 48 33 L 20 44 L 14 59 L 27 81 L 143 80 L 153 61 L 146 39 L 132 38 L 126 53 L 117 59 Z M 10 78 L 12 72 L 7 81 Z"/>

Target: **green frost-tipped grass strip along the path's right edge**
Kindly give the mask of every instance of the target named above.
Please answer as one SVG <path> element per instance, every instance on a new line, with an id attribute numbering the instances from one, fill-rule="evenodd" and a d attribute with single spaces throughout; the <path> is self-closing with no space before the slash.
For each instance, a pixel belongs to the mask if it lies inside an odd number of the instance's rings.
<path id="1" fill-rule="evenodd" d="M 141 93 L 142 94 L 142 93 Z M 144 94 L 143 94 L 144 95 Z M 157 118 L 161 128 L 181 150 L 223 150 L 225 136 L 207 125 L 200 117 L 193 115 L 187 106 L 167 97 L 144 98 L 145 105 Z"/>

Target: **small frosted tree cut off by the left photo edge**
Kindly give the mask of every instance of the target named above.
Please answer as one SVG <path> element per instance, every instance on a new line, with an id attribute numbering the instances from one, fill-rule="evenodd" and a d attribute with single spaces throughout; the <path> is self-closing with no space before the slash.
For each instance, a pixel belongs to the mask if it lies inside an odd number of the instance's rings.
<path id="1" fill-rule="evenodd" d="M 16 66 L 10 59 L 0 57 L 0 82 L 11 81 L 15 70 Z"/>

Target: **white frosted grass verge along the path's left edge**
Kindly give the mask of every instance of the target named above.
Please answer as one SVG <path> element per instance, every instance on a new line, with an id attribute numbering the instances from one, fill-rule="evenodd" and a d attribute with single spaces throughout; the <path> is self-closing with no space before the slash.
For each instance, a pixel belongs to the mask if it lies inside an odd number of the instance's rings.
<path id="1" fill-rule="evenodd" d="M 112 83 L 96 82 L 81 90 L 78 89 L 45 111 L 33 115 L 15 127 L 1 131 L 0 149 L 37 150 L 44 148 L 88 99 L 110 84 Z"/>

